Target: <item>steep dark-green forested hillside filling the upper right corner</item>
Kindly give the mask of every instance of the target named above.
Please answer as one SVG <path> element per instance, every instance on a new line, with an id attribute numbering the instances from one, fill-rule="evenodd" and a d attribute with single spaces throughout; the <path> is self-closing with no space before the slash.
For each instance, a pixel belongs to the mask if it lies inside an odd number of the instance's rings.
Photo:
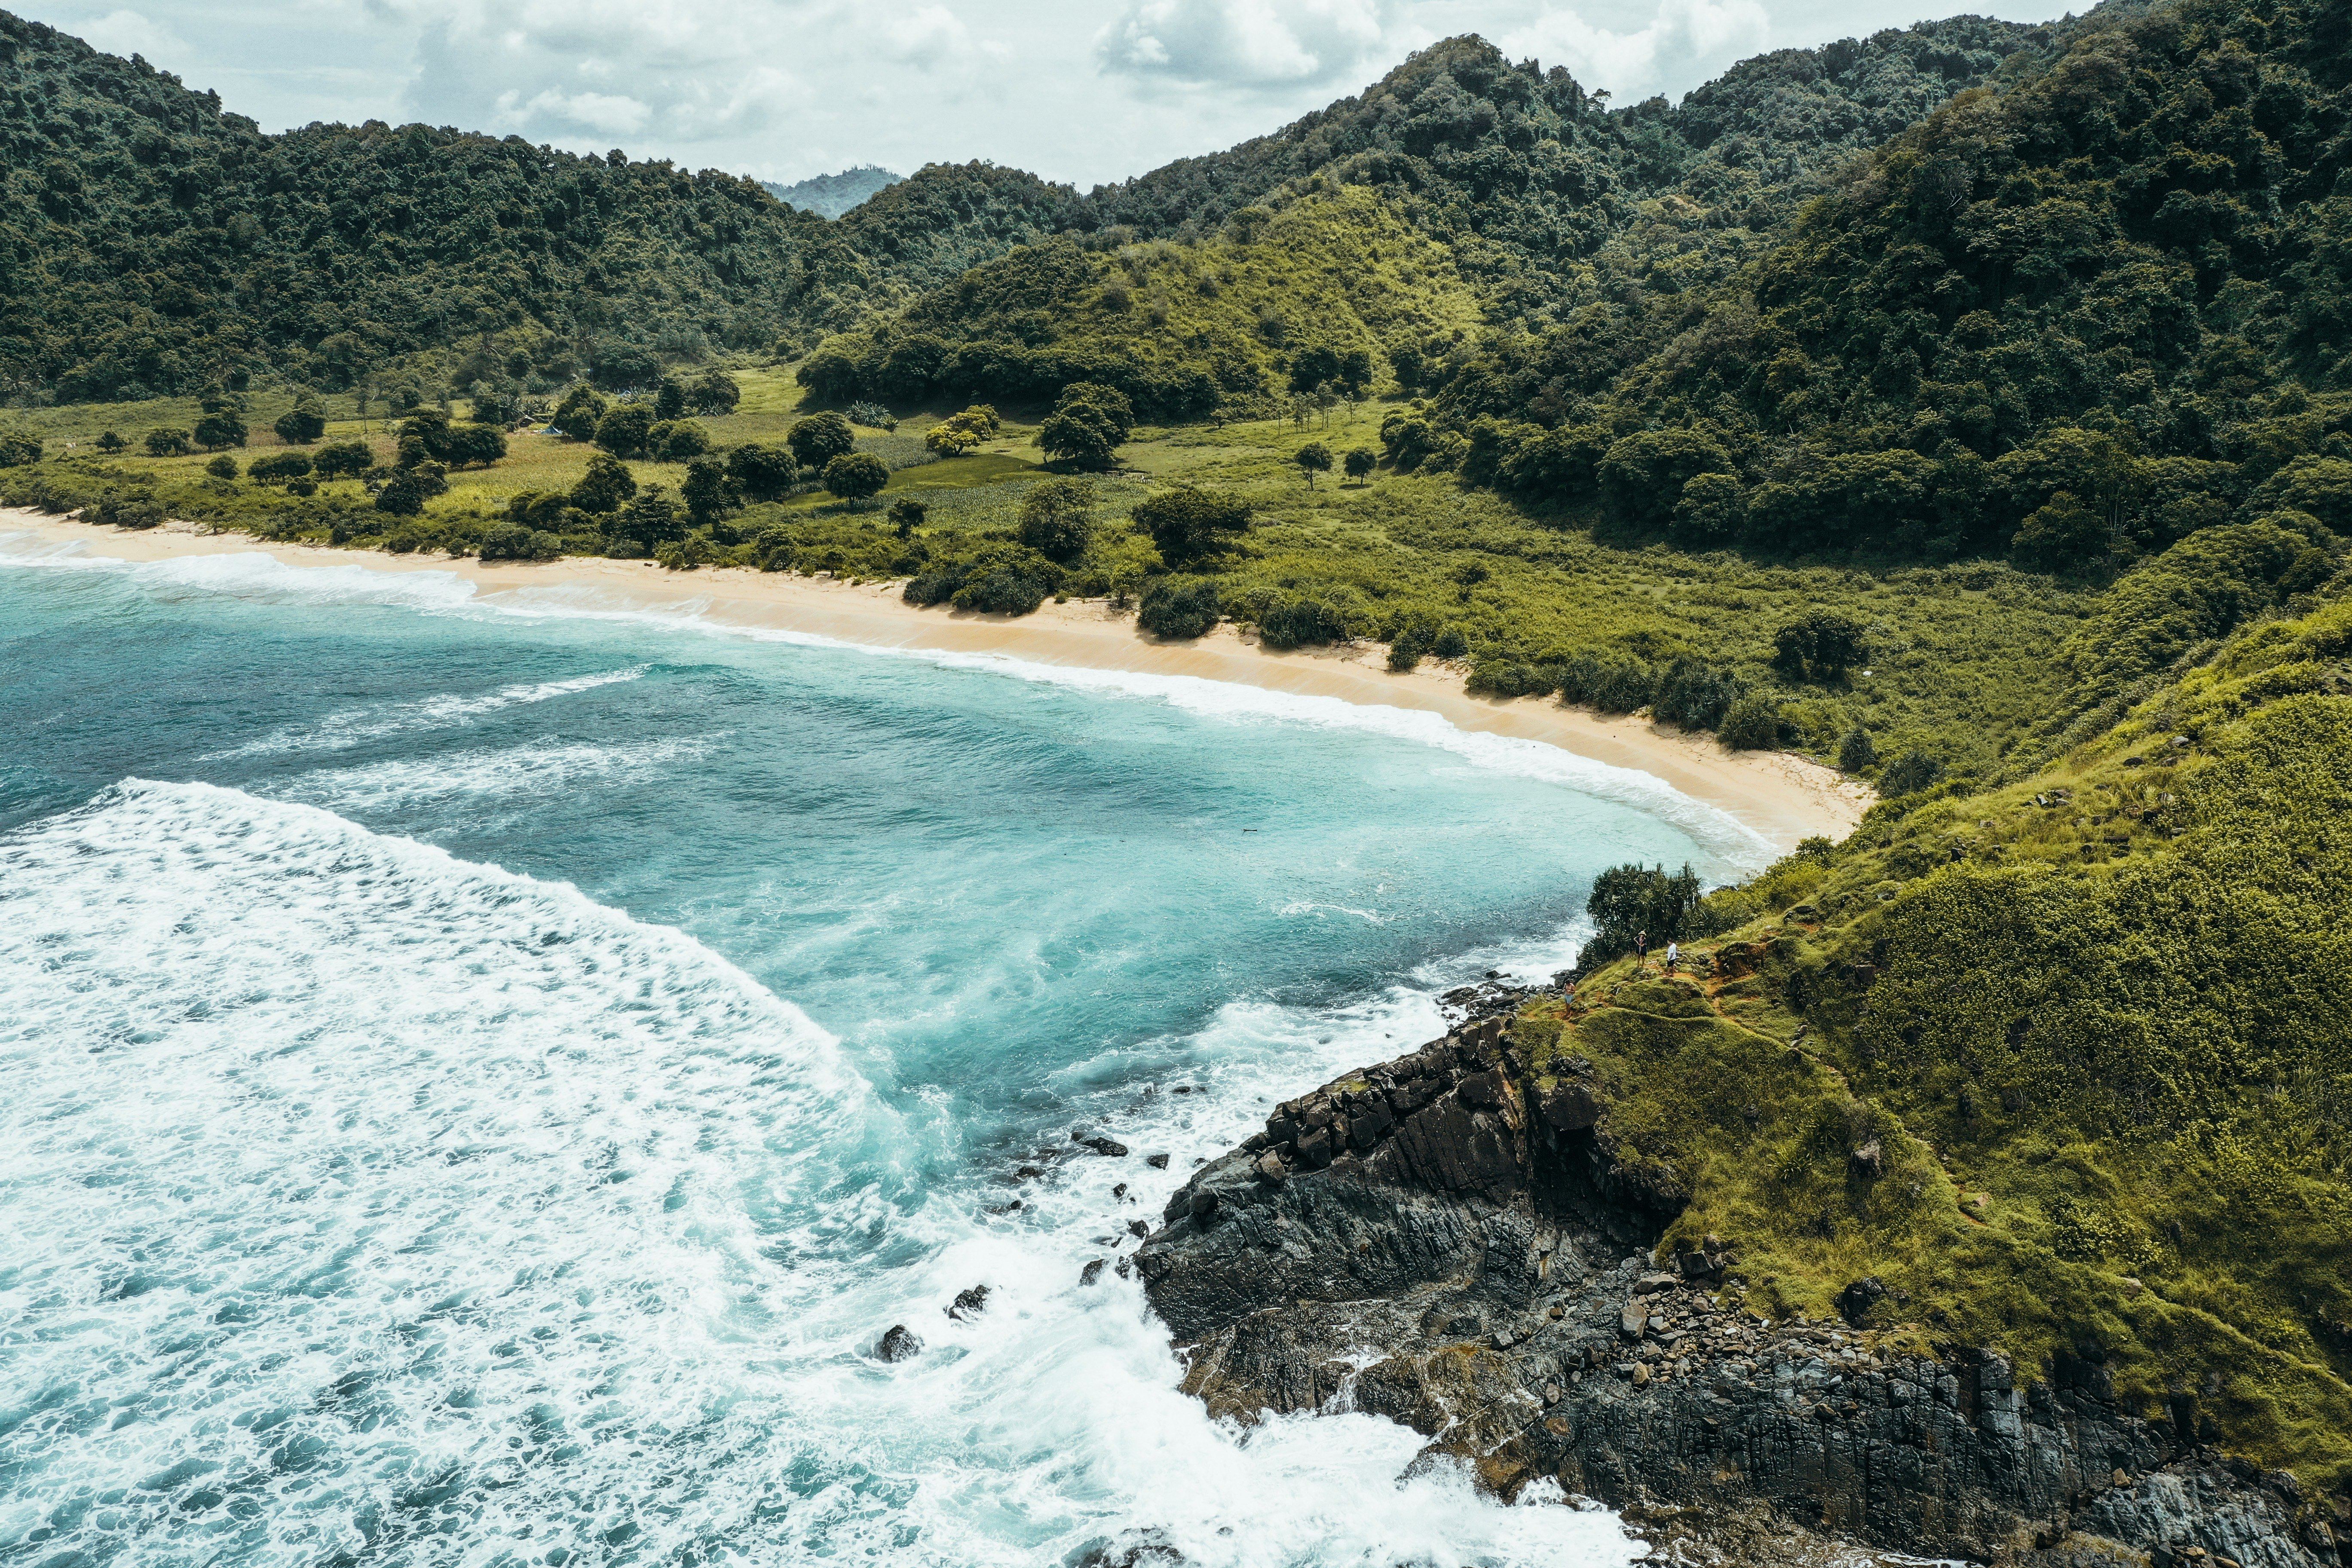
<path id="1" fill-rule="evenodd" d="M 1439 423 L 1696 550 L 2079 569 L 2277 505 L 2347 527 L 2347 35 L 2293 0 L 2093 16 L 1722 284 L 1494 339 Z"/>

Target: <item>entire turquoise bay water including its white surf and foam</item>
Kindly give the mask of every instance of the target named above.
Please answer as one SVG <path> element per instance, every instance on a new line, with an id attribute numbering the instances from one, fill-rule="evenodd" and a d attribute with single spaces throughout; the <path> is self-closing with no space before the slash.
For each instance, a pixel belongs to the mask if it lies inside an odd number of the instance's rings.
<path id="1" fill-rule="evenodd" d="M 1724 818 L 1425 715 L 259 555 L 0 538 L 0 1561 L 1628 1559 L 1374 1418 L 1209 1422 L 1080 1267 L 1562 966 L 1602 865 L 1752 860 Z"/>

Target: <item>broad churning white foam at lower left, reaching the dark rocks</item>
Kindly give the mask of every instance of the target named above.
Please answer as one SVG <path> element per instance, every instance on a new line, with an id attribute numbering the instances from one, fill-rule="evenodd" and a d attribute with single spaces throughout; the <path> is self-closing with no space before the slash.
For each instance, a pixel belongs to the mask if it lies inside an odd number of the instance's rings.
<path id="1" fill-rule="evenodd" d="M 310 806 L 134 780 L 0 839 L 0 997 L 5 1554 L 1628 1559 L 1402 1481 L 1376 1418 L 1218 1427 L 1136 1284 L 1077 1284 L 1258 1100 L 1435 1032 L 1423 985 L 1150 1041 L 1207 1093 L 1091 1114 L 1169 1168 L 1004 1218 L 694 940 Z M 891 1321 L 929 1349 L 873 1361 Z"/>

